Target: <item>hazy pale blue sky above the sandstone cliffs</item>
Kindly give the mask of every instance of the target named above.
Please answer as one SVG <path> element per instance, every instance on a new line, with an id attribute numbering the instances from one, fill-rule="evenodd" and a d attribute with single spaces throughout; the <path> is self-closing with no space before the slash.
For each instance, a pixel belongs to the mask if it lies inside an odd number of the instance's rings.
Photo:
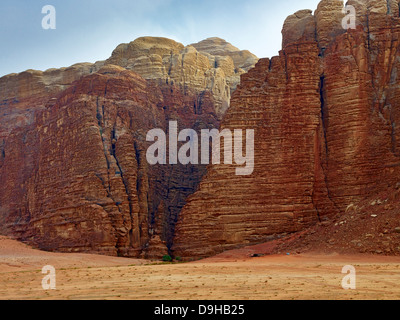
<path id="1" fill-rule="evenodd" d="M 285 18 L 319 0 L 1 0 L 0 76 L 107 59 L 120 43 L 162 36 L 188 45 L 220 37 L 258 57 L 281 48 Z M 42 28 L 42 7 L 56 30 Z"/>

